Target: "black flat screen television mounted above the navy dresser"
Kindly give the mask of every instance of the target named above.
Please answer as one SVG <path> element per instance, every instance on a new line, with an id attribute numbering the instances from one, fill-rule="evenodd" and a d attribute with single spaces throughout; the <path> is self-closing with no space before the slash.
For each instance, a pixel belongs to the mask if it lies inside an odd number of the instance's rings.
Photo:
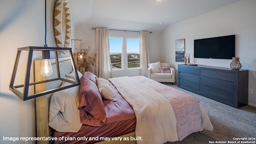
<path id="1" fill-rule="evenodd" d="M 232 59 L 235 35 L 194 40 L 194 58 Z"/>

